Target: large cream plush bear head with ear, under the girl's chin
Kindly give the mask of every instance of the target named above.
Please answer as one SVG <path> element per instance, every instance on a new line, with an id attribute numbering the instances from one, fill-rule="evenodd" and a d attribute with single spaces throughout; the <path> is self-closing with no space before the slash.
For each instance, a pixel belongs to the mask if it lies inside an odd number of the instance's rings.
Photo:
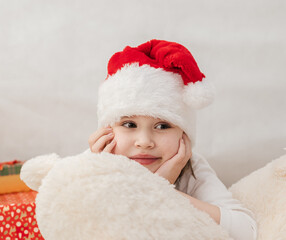
<path id="1" fill-rule="evenodd" d="M 21 178 L 39 191 L 36 216 L 46 240 L 230 239 L 167 180 L 124 156 L 46 155 L 24 164 Z"/>

